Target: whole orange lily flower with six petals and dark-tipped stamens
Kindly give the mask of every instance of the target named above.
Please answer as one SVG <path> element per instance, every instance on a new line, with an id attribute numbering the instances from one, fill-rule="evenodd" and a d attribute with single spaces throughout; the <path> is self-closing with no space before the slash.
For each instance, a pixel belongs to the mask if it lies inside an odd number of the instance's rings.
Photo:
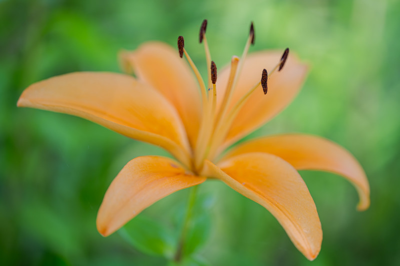
<path id="1" fill-rule="evenodd" d="M 288 55 L 288 49 L 283 56 L 276 51 L 247 56 L 254 41 L 251 24 L 242 56 L 233 56 L 217 76 L 205 28 L 206 20 L 199 39 L 210 67 L 207 87 L 180 36 L 179 54 L 160 42 L 122 52 L 123 68 L 136 78 L 109 72 L 60 75 L 30 85 L 17 106 L 79 116 L 158 145 L 175 158 L 142 156 L 123 167 L 98 211 L 101 235 L 112 234 L 159 199 L 215 178 L 271 212 L 295 247 L 313 260 L 321 246 L 321 225 L 297 170 L 328 171 L 346 178 L 358 192 L 358 210 L 369 206 L 365 173 L 342 147 L 303 134 L 261 137 L 223 154 L 289 104 L 307 66 Z M 183 54 L 191 69 L 179 58 Z"/>

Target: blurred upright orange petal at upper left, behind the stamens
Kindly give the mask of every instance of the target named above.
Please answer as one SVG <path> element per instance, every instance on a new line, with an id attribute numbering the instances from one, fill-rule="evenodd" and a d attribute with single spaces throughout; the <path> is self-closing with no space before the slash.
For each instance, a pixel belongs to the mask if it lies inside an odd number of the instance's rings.
<path id="1" fill-rule="evenodd" d="M 193 72 L 176 49 L 162 42 L 146 42 L 132 52 L 120 53 L 126 71 L 153 86 L 179 113 L 194 147 L 200 120 L 200 94 Z M 126 69 L 127 67 L 127 69 Z"/>

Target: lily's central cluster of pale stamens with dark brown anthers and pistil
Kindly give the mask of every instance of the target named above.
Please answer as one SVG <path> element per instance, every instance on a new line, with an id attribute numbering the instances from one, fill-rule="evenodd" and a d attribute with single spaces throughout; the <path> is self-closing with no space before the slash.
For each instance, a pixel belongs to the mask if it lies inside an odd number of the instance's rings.
<path id="1" fill-rule="evenodd" d="M 231 65 L 230 65 L 230 73 L 229 79 L 226 85 L 225 94 L 222 95 L 223 99 L 216 112 L 216 97 L 217 97 L 217 88 L 216 88 L 216 66 L 213 61 L 211 61 L 211 55 L 208 48 L 207 38 L 205 36 L 205 30 L 207 27 L 207 20 L 204 19 L 199 32 L 199 42 L 204 44 L 204 52 L 205 59 L 208 67 L 207 76 L 208 76 L 208 89 L 205 87 L 205 83 L 188 55 L 187 51 L 184 48 L 184 40 L 182 36 L 178 37 L 177 45 L 179 50 L 179 56 L 182 58 L 183 54 L 185 55 L 189 65 L 193 69 L 193 72 L 197 78 L 198 84 L 200 85 L 201 91 L 201 102 L 202 102 L 202 115 L 200 121 L 200 127 L 198 132 L 197 141 L 194 147 L 192 147 L 192 171 L 197 173 L 200 172 L 203 162 L 205 159 L 213 160 L 215 159 L 220 152 L 222 152 L 219 147 L 224 141 L 230 126 L 232 125 L 234 118 L 236 117 L 238 111 L 246 102 L 246 100 L 250 97 L 250 95 L 256 90 L 256 88 L 261 85 L 264 94 L 267 93 L 267 80 L 268 78 L 275 72 L 277 69 L 280 71 L 286 62 L 287 55 L 289 49 L 286 48 L 283 52 L 283 55 L 276 64 L 276 66 L 270 71 L 269 75 L 266 69 L 262 70 L 260 81 L 251 87 L 236 103 L 234 103 L 232 108 L 228 108 L 230 106 L 232 93 L 237 84 L 239 75 L 241 73 L 241 69 L 243 67 L 243 63 L 245 57 L 248 53 L 248 49 L 251 44 L 254 44 L 254 26 L 251 22 L 249 35 L 246 41 L 246 44 L 243 49 L 243 53 L 240 59 L 237 56 L 232 56 Z"/>

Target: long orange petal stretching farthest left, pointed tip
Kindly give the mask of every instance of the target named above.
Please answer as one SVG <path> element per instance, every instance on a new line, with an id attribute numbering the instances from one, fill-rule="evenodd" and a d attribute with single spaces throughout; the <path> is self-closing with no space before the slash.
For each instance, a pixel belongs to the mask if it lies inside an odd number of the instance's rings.
<path id="1" fill-rule="evenodd" d="M 25 89 L 17 106 L 79 116 L 187 160 L 188 142 L 176 110 L 159 92 L 128 75 L 75 72 L 52 77 Z"/>

